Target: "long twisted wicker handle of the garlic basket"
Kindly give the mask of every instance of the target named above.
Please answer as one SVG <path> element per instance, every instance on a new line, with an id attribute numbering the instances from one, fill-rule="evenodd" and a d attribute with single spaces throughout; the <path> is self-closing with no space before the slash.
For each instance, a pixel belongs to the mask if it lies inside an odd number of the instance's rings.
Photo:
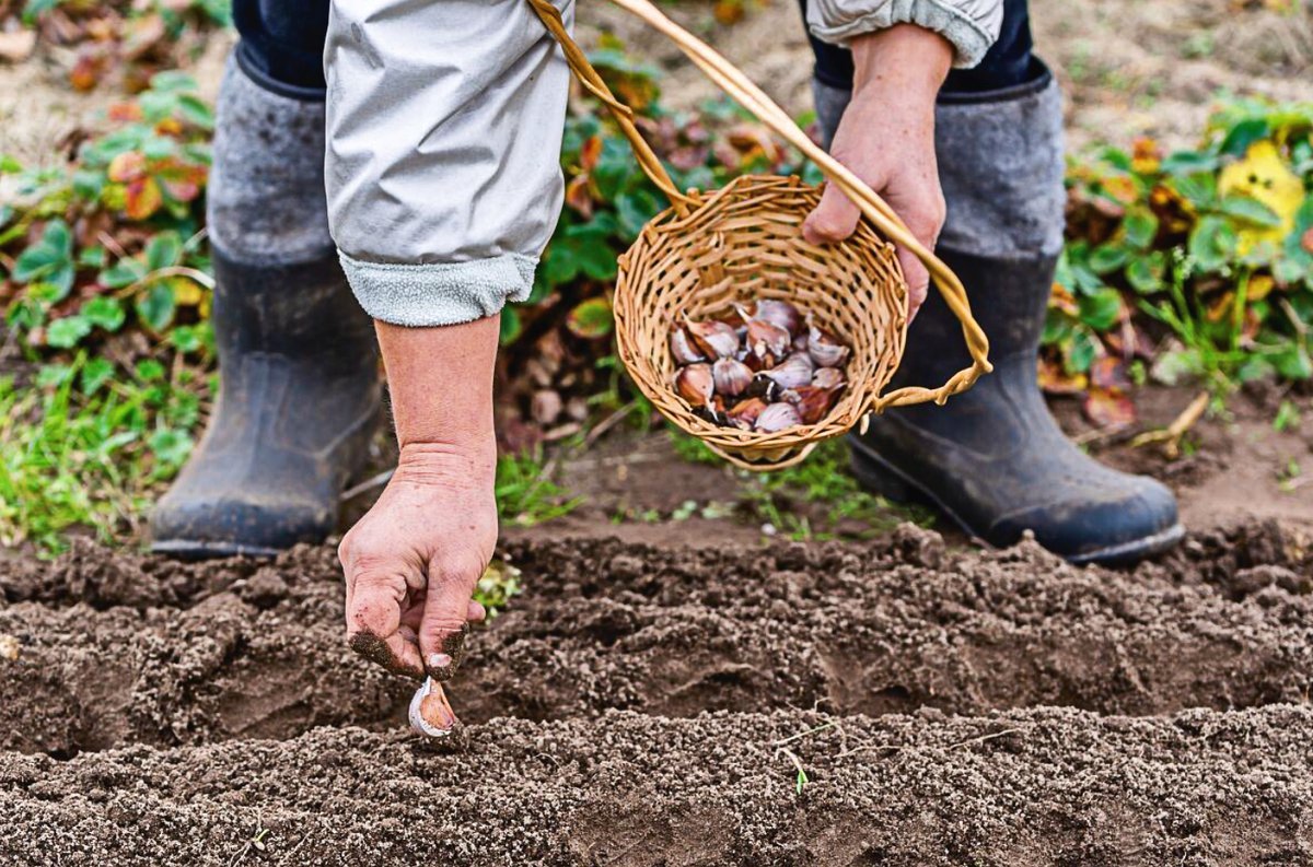
<path id="1" fill-rule="evenodd" d="M 962 338 L 966 350 L 970 353 L 972 365 L 949 376 L 948 382 L 937 388 L 923 388 L 909 386 L 873 397 L 865 407 L 871 412 L 882 412 L 889 407 L 906 407 L 934 400 L 943 404 L 948 397 L 970 388 L 982 374 L 994 369 L 989 362 L 989 338 L 979 324 L 972 316 L 972 307 L 966 299 L 966 290 L 957 275 L 937 256 L 927 249 L 907 230 L 907 226 L 894 212 L 889 205 L 876 194 L 867 184 L 853 174 L 847 167 L 825 152 L 807 135 L 798 129 L 798 125 L 771 100 L 759 87 L 756 87 L 733 63 L 722 58 L 710 46 L 688 33 L 678 24 L 667 18 L 649 0 L 611 0 L 621 9 L 637 16 L 650 28 L 666 35 L 675 46 L 683 51 L 693 64 L 702 71 L 716 85 L 725 91 L 735 102 L 751 111 L 765 126 L 789 144 L 798 148 L 805 156 L 815 163 L 825 173 L 826 178 L 839 186 L 850 199 L 885 237 L 913 252 L 930 272 L 931 279 L 944 302 L 953 312 L 953 316 L 962 324 Z M 566 54 L 566 62 L 574 70 L 584 89 L 601 100 L 611 109 L 620 125 L 621 131 L 634 147 L 638 164 L 651 181 L 670 198 L 671 205 L 680 216 L 688 214 L 688 209 L 696 202 L 680 193 L 670 174 L 662 167 L 660 160 L 649 147 L 643 136 L 633 122 L 633 111 L 611 93 L 607 84 L 597 75 L 597 71 L 588 63 L 588 58 L 570 37 L 561 12 L 551 4 L 551 0 L 528 0 L 553 38 L 561 43 Z M 863 422 L 863 428 L 865 421 Z"/>

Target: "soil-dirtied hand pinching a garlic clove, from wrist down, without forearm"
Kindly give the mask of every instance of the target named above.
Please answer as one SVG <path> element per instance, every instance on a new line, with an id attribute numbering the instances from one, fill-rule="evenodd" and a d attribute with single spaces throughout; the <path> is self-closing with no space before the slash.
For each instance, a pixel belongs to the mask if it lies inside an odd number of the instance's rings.
<path id="1" fill-rule="evenodd" d="M 496 544 L 495 467 L 495 447 L 402 447 L 383 494 L 337 548 L 357 653 L 411 677 L 456 672 L 466 623 L 484 616 L 470 597 Z"/>

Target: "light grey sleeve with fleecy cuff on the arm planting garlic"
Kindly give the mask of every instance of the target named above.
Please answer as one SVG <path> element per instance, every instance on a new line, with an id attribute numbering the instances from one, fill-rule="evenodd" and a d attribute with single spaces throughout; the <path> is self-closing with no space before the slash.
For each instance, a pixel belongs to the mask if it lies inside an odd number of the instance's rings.
<path id="1" fill-rule="evenodd" d="M 324 70 L 330 230 L 365 311 L 450 325 L 528 298 L 570 75 L 529 4 L 332 0 Z"/>

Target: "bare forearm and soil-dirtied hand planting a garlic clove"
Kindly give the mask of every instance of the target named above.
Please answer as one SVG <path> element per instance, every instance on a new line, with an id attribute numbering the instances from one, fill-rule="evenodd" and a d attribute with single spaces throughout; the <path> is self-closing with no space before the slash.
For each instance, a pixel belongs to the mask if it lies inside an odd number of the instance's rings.
<path id="1" fill-rule="evenodd" d="M 470 595 L 496 544 L 499 321 L 374 324 L 400 456 L 337 556 L 347 573 L 348 640 L 393 672 L 450 678 L 467 622 L 483 619 Z"/>

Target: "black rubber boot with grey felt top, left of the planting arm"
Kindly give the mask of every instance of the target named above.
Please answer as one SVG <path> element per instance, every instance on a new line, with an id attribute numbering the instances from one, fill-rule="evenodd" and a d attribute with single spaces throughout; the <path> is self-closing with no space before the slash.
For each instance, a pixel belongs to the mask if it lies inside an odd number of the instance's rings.
<path id="1" fill-rule="evenodd" d="M 323 153 L 323 102 L 228 64 L 207 214 L 219 395 L 151 518 L 155 551 L 265 556 L 336 529 L 381 404 L 373 324 L 328 236 Z"/>

